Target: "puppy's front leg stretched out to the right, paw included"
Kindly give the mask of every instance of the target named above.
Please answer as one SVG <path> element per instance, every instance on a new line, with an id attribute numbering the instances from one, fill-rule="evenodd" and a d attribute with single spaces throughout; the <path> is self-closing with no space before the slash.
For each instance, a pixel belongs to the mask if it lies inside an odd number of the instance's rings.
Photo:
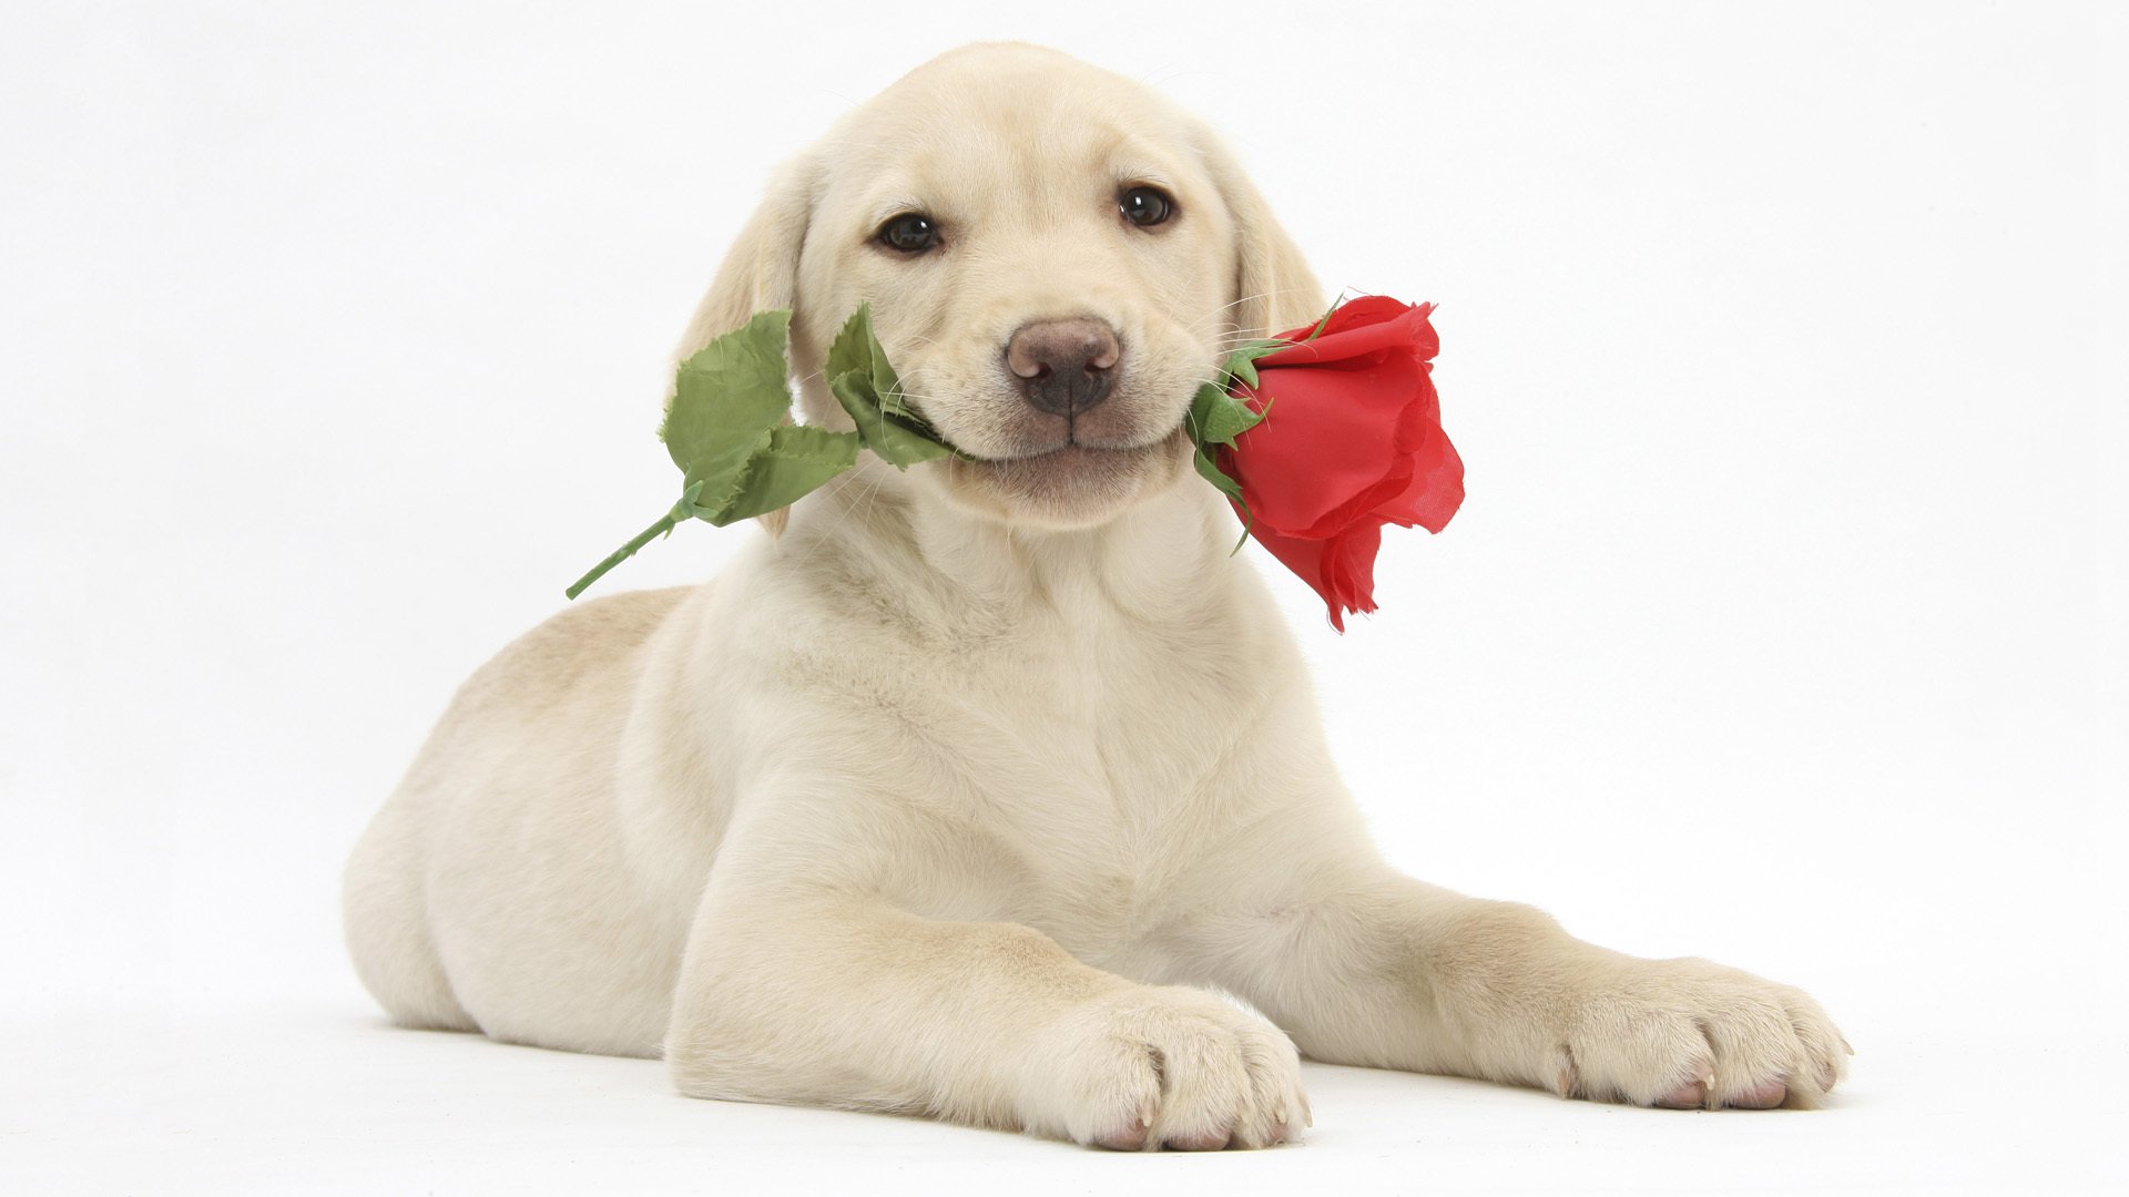
<path id="1" fill-rule="evenodd" d="M 1846 1071 L 1846 1042 L 1797 988 L 1610 952 L 1373 863 L 1294 875 L 1203 918 L 1186 954 L 1309 1059 L 1667 1108 L 1812 1105 Z"/>

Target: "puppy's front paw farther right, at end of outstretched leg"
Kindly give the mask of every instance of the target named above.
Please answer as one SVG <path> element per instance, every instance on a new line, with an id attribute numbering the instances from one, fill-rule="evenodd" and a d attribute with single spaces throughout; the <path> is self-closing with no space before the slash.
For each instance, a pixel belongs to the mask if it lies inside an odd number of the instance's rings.
<path id="1" fill-rule="evenodd" d="M 1803 990 L 1707 961 L 1618 961 L 1578 986 L 1554 1088 L 1667 1110 L 1812 1108 L 1850 1052 Z"/>

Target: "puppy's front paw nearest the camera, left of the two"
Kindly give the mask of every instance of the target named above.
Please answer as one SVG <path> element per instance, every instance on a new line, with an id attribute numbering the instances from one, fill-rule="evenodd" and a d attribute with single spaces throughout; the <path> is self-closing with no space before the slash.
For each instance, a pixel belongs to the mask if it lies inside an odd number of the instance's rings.
<path id="1" fill-rule="evenodd" d="M 1273 1024 L 1184 986 L 1133 986 L 1041 1031 L 1022 1122 L 1113 1150 L 1262 1148 L 1309 1122 L 1301 1056 Z"/>

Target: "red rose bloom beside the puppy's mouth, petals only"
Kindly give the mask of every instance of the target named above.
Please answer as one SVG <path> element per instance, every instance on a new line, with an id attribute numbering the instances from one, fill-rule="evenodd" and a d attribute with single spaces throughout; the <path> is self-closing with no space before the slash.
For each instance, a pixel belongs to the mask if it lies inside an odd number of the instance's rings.
<path id="1" fill-rule="evenodd" d="M 1363 296 L 1335 309 L 1322 332 L 1256 360 L 1254 388 L 1235 396 L 1262 424 L 1220 447 L 1220 471 L 1241 483 L 1250 535 L 1331 605 L 1375 609 L 1382 526 L 1439 532 L 1463 503 L 1463 460 L 1441 430 L 1429 379 L 1439 349 L 1433 305 Z"/>

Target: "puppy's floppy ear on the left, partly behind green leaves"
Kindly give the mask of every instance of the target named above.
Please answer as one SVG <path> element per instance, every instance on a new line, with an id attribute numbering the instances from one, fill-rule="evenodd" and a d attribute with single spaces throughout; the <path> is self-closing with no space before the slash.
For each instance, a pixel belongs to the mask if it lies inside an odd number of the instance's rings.
<path id="1" fill-rule="evenodd" d="M 709 294 L 694 307 L 688 330 L 673 349 L 673 366 L 692 358 L 703 345 L 732 332 L 758 311 L 788 309 L 798 302 L 798 251 L 805 247 L 805 230 L 813 219 L 813 192 L 818 168 L 811 158 L 786 162 L 769 179 L 769 194 L 754 211 L 739 239 L 726 249 L 717 277 L 709 283 Z M 673 371 L 666 373 L 673 377 Z M 666 383 L 664 400 L 673 403 L 673 383 Z M 779 535 L 790 520 L 790 507 L 779 507 L 760 518 L 771 535 Z"/>

